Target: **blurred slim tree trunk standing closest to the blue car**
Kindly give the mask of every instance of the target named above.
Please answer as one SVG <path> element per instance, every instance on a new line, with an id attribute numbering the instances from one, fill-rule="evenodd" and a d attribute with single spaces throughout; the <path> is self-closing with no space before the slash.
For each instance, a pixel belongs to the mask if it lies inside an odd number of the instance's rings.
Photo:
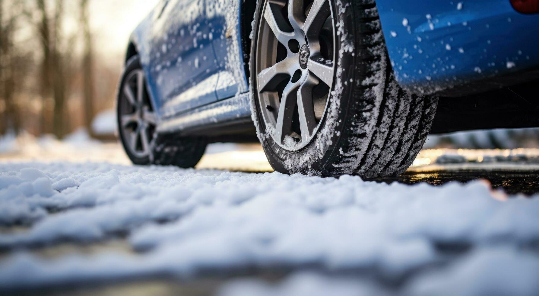
<path id="1" fill-rule="evenodd" d="M 84 37 L 84 52 L 82 56 L 82 92 L 84 96 L 84 112 L 86 130 L 94 137 L 92 120 L 94 118 L 94 72 L 92 32 L 88 20 L 88 0 L 80 0 L 80 24 Z"/>

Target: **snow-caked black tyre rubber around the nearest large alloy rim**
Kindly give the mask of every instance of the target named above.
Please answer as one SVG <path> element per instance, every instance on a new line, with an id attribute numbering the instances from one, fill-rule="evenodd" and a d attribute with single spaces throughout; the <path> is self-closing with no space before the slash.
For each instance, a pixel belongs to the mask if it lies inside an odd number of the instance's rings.
<path id="1" fill-rule="evenodd" d="M 299 151 L 275 143 L 261 117 L 255 84 L 260 0 L 253 23 L 253 122 L 269 163 L 282 173 L 396 176 L 423 147 L 438 98 L 406 92 L 395 80 L 374 0 L 330 0 L 335 11 L 336 71 L 326 114 L 312 142 Z M 261 49 L 263 50 L 263 49 Z"/>

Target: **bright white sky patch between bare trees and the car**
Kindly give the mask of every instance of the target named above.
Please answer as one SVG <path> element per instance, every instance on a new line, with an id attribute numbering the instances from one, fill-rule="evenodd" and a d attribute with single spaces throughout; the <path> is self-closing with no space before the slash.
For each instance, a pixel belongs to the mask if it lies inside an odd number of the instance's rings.
<path id="1" fill-rule="evenodd" d="M 105 56 L 121 56 L 129 36 L 160 0 L 90 0 L 94 47 Z"/>

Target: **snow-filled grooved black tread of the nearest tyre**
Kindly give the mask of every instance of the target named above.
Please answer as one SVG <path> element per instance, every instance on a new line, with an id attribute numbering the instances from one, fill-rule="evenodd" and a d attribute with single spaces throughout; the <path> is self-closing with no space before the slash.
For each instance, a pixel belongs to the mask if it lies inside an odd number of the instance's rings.
<path id="1" fill-rule="evenodd" d="M 351 5 L 360 16 L 355 48 L 361 51 L 358 52 L 361 62 L 355 69 L 355 77 L 361 84 L 356 85 L 355 91 L 361 95 L 356 93 L 355 97 L 360 101 L 351 104 L 345 124 L 349 140 L 341 141 L 339 149 L 342 156 L 333 163 L 337 171 L 331 174 L 352 173 L 365 178 L 396 176 L 411 165 L 423 147 L 438 99 L 410 95 L 398 86 L 388 65 L 389 57 L 375 2 L 352 1 Z M 381 71 L 385 74 L 383 78 Z M 376 88 L 381 86 L 384 95 L 379 98 Z M 369 124 L 369 118 L 354 114 L 372 111 L 376 111 L 378 118 L 369 133 L 368 128 L 361 127 Z"/>

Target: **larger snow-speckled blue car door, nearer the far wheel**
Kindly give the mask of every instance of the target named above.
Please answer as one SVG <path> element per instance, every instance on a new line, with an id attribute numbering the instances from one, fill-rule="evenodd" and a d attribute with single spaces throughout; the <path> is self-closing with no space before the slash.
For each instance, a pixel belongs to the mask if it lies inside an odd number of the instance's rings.
<path id="1" fill-rule="evenodd" d="M 164 2 L 151 29 L 149 71 L 166 118 L 215 102 L 219 73 L 204 0 Z"/>

